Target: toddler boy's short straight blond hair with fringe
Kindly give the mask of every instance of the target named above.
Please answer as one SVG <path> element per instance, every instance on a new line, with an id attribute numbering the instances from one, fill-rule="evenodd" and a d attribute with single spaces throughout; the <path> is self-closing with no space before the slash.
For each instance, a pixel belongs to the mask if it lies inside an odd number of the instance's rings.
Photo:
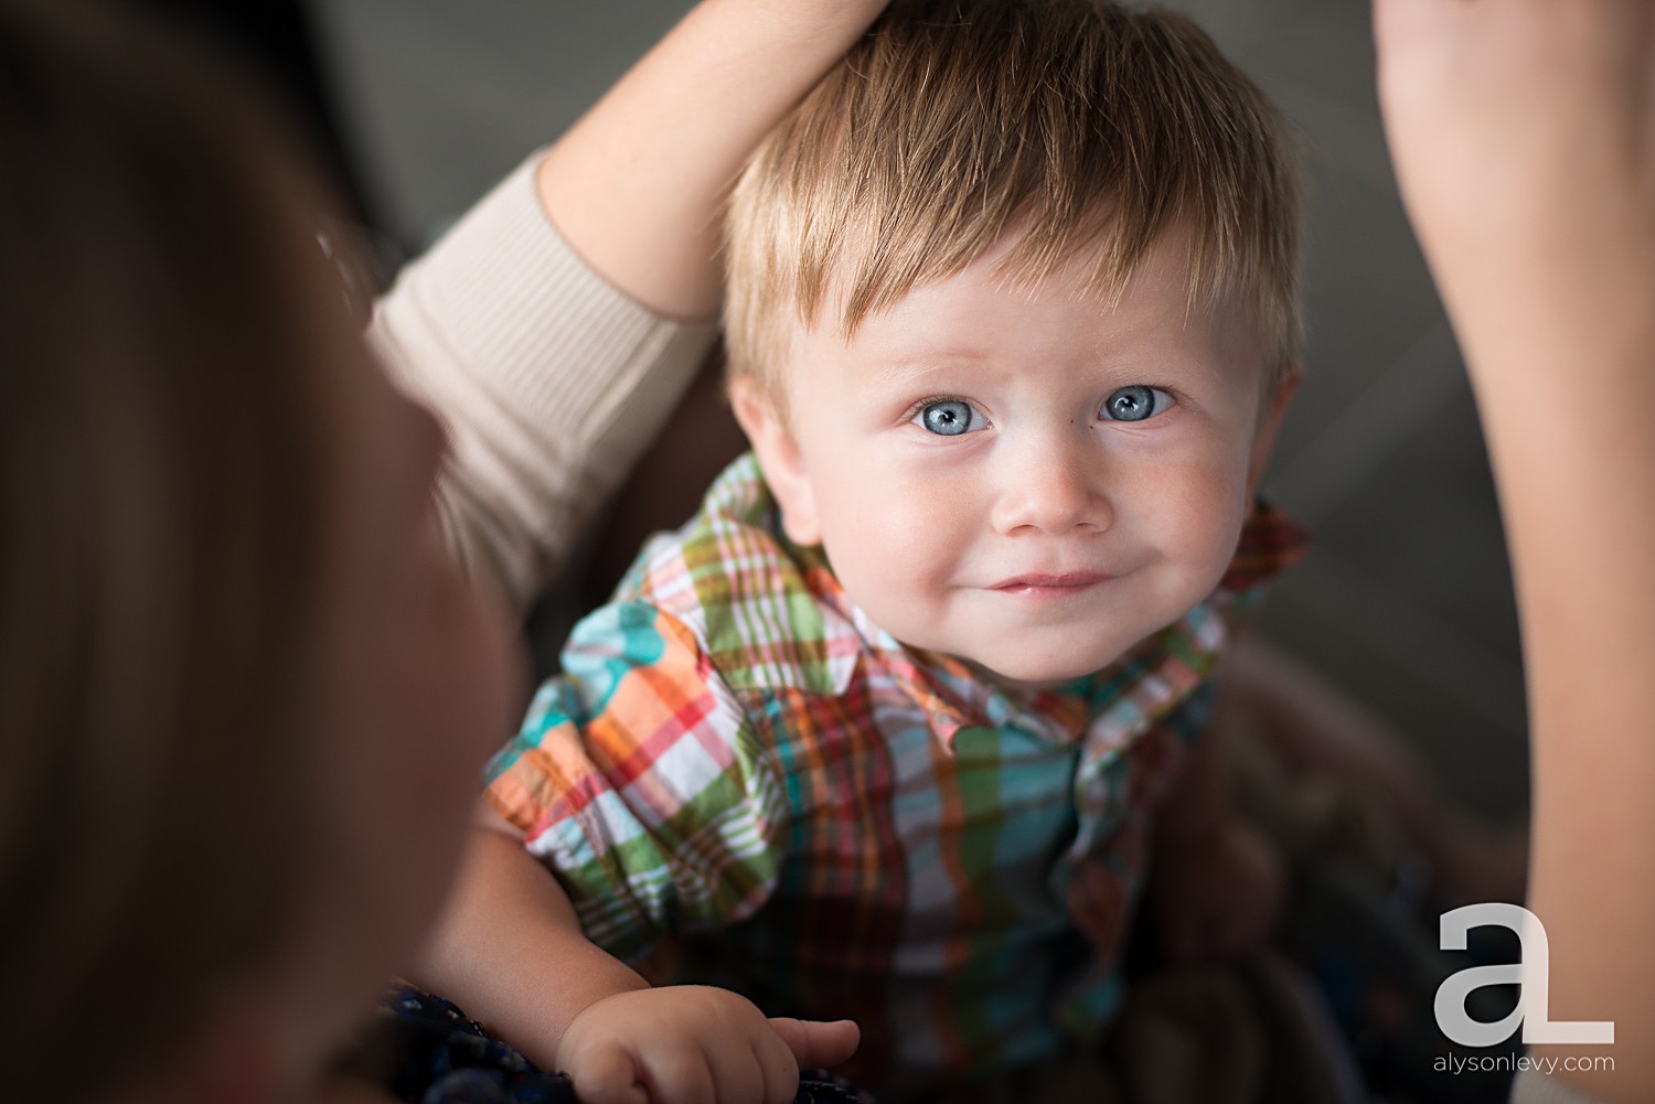
<path id="1" fill-rule="evenodd" d="M 773 394 L 794 324 L 849 338 L 1001 238 L 1038 280 L 1096 250 L 1119 291 L 1175 227 L 1190 303 L 1236 296 L 1296 358 L 1299 195 L 1283 124 L 1190 20 L 1107 0 L 897 0 L 761 144 L 727 230 L 732 376 Z"/>

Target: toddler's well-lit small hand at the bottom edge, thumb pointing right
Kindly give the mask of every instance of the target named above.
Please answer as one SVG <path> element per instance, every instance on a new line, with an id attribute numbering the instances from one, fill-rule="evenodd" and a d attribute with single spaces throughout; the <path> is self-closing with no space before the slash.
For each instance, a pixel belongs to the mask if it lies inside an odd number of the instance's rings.
<path id="1" fill-rule="evenodd" d="M 859 1041 L 849 1020 L 766 1020 L 728 990 L 669 985 L 589 1005 L 558 1068 L 581 1104 L 788 1104 L 801 1068 L 842 1063 Z"/>

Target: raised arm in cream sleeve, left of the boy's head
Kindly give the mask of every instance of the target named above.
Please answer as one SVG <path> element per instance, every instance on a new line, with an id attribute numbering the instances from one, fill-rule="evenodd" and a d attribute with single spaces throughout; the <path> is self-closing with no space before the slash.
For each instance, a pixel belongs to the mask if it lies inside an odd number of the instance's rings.
<path id="1" fill-rule="evenodd" d="M 702 0 L 381 301 L 371 338 L 452 437 L 450 543 L 525 609 L 713 336 L 748 152 L 884 0 Z"/>

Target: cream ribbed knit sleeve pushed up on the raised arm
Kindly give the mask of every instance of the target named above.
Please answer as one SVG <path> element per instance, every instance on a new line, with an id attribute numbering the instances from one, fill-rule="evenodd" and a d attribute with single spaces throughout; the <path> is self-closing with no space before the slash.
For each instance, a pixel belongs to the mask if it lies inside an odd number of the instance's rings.
<path id="1" fill-rule="evenodd" d="M 712 344 L 604 283 L 541 210 L 530 157 L 374 311 L 391 377 L 432 407 L 452 457 L 450 545 L 526 611 L 626 477 Z"/>

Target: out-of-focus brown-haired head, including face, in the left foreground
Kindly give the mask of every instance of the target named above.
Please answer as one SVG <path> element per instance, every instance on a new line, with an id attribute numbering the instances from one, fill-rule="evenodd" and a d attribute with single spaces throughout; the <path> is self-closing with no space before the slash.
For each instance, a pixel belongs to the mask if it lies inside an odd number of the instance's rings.
<path id="1" fill-rule="evenodd" d="M 0 1068 L 296 1091 L 407 960 L 506 723 L 255 96 L 118 12 L 0 5 Z"/>

